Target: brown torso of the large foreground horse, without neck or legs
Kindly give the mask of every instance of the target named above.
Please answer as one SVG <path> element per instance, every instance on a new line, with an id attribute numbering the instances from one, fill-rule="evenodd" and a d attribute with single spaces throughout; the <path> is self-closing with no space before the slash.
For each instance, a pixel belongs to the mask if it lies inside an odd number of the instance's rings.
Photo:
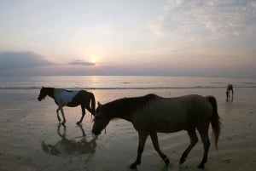
<path id="1" fill-rule="evenodd" d="M 141 124 L 152 127 L 157 132 L 177 132 L 186 129 L 193 122 L 209 120 L 212 106 L 201 95 L 186 95 L 175 98 L 156 98 L 141 111 Z M 153 124 L 153 125 L 152 125 Z"/>

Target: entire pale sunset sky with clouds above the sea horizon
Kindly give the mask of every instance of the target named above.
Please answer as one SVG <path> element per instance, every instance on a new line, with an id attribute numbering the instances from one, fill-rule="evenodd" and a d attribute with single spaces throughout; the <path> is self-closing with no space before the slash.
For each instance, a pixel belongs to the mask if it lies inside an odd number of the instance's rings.
<path id="1" fill-rule="evenodd" d="M 0 75 L 256 77 L 256 0 L 0 0 Z"/>

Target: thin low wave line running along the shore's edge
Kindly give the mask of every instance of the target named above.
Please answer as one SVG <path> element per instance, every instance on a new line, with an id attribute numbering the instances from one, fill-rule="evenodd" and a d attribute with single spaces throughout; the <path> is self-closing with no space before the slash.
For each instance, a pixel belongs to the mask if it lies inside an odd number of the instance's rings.
<path id="1" fill-rule="evenodd" d="M 41 89 L 42 87 L 37 87 L 37 86 L 32 86 L 32 87 L 0 87 L 0 89 Z M 100 87 L 100 88 L 93 88 L 93 87 L 71 87 L 71 88 L 66 88 L 66 89 L 100 89 L 100 90 L 115 90 L 115 89 L 207 89 L 207 88 L 226 88 L 226 86 L 190 86 L 190 87 Z M 255 84 L 247 84 L 247 85 L 241 85 L 241 86 L 236 86 L 236 88 L 256 88 Z"/>

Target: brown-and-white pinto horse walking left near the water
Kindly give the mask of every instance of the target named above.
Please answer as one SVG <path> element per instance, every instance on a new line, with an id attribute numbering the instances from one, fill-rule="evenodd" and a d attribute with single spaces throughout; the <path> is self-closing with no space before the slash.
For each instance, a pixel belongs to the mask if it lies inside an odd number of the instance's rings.
<path id="1" fill-rule="evenodd" d="M 40 94 L 38 95 L 38 101 L 43 100 L 47 95 L 55 100 L 55 104 L 58 105 L 57 117 L 58 121 L 61 122 L 59 111 L 61 111 L 63 121 L 62 124 L 66 123 L 64 116 L 63 106 L 75 107 L 81 105 L 82 117 L 77 124 L 83 122 L 85 115 L 85 108 L 90 111 L 92 115 L 95 113 L 95 97 L 94 94 L 85 90 L 67 90 L 62 88 L 41 88 Z"/>

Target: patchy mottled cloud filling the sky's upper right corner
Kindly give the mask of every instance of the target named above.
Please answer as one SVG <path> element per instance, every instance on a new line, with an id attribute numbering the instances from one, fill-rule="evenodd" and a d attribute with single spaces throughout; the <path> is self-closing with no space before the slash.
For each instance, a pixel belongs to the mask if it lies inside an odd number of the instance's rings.
<path id="1" fill-rule="evenodd" d="M 147 27 L 158 35 L 175 31 L 227 36 L 256 31 L 255 1 L 170 0 L 163 14 Z"/>

